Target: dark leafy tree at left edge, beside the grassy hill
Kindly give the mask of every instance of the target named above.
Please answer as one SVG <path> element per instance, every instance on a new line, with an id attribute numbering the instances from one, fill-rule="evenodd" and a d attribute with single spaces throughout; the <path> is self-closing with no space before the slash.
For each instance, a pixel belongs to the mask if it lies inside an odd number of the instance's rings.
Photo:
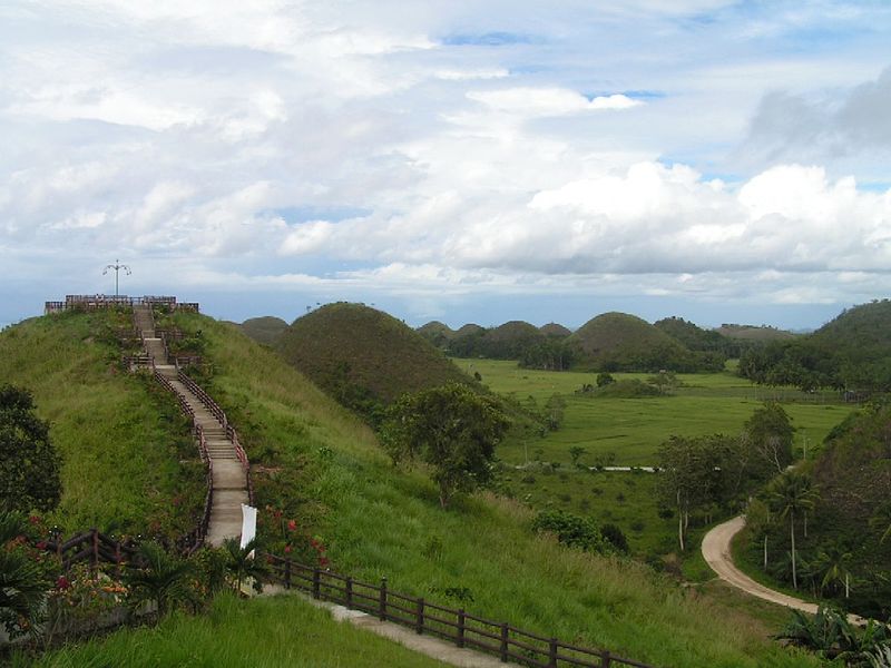
<path id="1" fill-rule="evenodd" d="M 60 459 L 49 424 L 35 414 L 28 390 L 0 386 L 0 505 L 7 510 L 52 510 L 59 504 Z"/>

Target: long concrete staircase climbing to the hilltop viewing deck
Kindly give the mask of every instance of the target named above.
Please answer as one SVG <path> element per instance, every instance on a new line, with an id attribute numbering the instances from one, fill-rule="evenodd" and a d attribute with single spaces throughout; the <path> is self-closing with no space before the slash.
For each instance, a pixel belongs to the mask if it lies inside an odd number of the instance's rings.
<path id="1" fill-rule="evenodd" d="M 204 433 L 213 477 L 210 521 L 205 542 L 218 547 L 226 538 L 238 538 L 242 534 L 242 503 L 248 503 L 247 474 L 226 433 L 226 425 L 179 380 L 176 366 L 167 363 L 164 342 L 155 336 L 151 308 L 135 306 L 134 321 L 155 370 L 167 379 L 173 390 L 188 405 L 195 425 Z"/>

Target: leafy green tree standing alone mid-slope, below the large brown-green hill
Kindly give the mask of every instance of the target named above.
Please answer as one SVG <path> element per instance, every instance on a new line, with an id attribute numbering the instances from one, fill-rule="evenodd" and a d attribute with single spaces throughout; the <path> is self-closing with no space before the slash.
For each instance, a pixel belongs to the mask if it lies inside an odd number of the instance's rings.
<path id="1" fill-rule="evenodd" d="M 394 462 L 418 458 L 430 466 L 446 508 L 456 492 L 491 479 L 495 446 L 509 424 L 495 400 L 449 383 L 393 404 L 382 441 Z"/>

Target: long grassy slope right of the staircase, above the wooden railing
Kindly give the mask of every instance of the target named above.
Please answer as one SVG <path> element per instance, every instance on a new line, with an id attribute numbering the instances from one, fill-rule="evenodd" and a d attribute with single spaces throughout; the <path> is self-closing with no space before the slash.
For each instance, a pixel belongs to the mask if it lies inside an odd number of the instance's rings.
<path id="1" fill-rule="evenodd" d="M 301 468 L 290 493 L 316 508 L 313 532 L 336 570 L 385 574 L 394 590 L 659 666 L 815 665 L 730 605 L 536 537 L 522 504 L 480 494 L 441 510 L 423 471 L 394 470 L 368 429 L 272 351 L 203 316 L 177 317 L 204 332 L 212 390 L 252 461 L 277 475 Z"/>

